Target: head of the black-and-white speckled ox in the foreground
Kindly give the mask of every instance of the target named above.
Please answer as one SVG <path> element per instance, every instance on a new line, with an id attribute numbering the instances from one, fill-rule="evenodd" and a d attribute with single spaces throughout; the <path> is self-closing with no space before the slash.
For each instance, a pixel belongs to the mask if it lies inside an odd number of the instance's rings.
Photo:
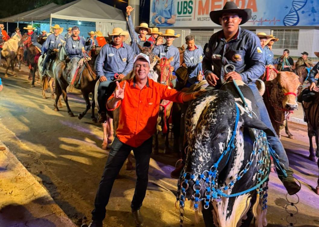
<path id="1" fill-rule="evenodd" d="M 240 107 L 240 104 L 238 106 Z M 204 173 L 205 177 L 208 175 L 208 171 L 227 148 L 235 129 L 236 116 L 235 98 L 226 91 L 207 91 L 190 103 L 185 115 L 185 133 L 188 141 L 188 153 L 184 169 L 188 176 L 185 178 L 189 178 L 190 174 Z M 244 127 L 262 129 L 267 134 L 274 135 L 263 122 L 249 117 L 240 108 L 239 121 L 235 131 L 235 147 L 232 149 L 229 159 L 227 154 L 220 160 L 217 167 L 216 183 L 220 186 L 232 180 L 231 178 L 238 173 L 237 169 L 241 169 L 246 164 L 243 160 Z M 250 147 L 245 149 L 251 152 L 252 145 L 250 144 Z M 180 184 L 185 188 L 182 176 Z M 186 198 L 188 199 L 194 199 L 194 184 L 194 180 L 188 182 L 188 189 L 186 190 Z M 200 198 L 205 197 L 206 184 L 205 181 L 200 181 Z"/>

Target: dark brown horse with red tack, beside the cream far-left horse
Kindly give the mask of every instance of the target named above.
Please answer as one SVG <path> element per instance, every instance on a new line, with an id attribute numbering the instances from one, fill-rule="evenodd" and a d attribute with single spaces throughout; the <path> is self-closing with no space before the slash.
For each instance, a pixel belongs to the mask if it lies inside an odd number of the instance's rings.
<path id="1" fill-rule="evenodd" d="M 21 40 L 19 41 L 19 46 L 26 46 L 27 55 L 25 60 L 27 65 L 29 65 L 30 75 L 32 75 L 31 87 L 34 87 L 35 72 L 37 71 L 37 64 L 41 55 L 41 50 L 32 44 L 31 37 L 27 34 L 22 36 Z"/>

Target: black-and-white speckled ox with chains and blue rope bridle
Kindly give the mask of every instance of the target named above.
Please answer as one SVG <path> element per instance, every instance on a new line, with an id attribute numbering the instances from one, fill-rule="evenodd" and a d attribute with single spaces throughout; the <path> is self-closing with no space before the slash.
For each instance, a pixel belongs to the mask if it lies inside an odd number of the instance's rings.
<path id="1" fill-rule="evenodd" d="M 267 225 L 270 168 L 269 149 L 263 144 L 267 144 L 265 133 L 274 134 L 258 120 L 249 86 L 235 81 L 249 110 L 233 82 L 189 104 L 185 116 L 188 152 L 177 185 L 177 202 L 182 213 L 185 200 L 191 200 L 194 210 L 202 210 L 206 226 L 249 226 L 255 216 L 261 227 Z"/>

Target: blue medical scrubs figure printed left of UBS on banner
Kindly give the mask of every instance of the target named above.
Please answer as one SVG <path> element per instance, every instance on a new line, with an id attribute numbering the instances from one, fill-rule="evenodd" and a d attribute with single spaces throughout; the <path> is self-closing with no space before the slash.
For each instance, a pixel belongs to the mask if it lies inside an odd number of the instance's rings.
<path id="1" fill-rule="evenodd" d="M 156 13 L 155 16 L 152 16 L 151 20 L 154 26 L 156 27 L 168 27 L 173 26 L 173 24 L 168 24 L 167 20 L 172 18 L 172 15 L 176 15 L 175 0 L 153 0 L 151 13 Z M 165 19 L 165 22 L 162 24 L 157 24 L 155 18 L 158 18 L 161 22 L 161 18 Z"/>

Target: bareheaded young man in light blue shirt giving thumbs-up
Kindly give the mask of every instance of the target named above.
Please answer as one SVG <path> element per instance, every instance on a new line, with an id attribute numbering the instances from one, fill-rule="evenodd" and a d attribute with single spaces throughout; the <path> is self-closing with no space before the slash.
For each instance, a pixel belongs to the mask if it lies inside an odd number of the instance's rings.
<path id="1" fill-rule="evenodd" d="M 202 75 L 203 67 L 202 61 L 204 56 L 203 48 L 198 45 L 195 45 L 195 38 L 192 35 L 185 37 L 187 48 L 184 52 L 184 62 L 189 70 L 188 83 L 186 87 L 191 86 L 192 84 L 197 84 L 198 82 L 205 79 L 205 76 Z"/>

